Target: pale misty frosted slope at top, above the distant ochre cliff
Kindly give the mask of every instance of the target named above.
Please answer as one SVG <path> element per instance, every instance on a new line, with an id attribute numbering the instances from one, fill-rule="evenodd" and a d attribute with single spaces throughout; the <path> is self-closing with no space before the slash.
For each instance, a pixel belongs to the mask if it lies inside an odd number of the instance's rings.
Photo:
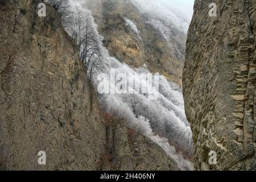
<path id="1" fill-rule="evenodd" d="M 169 44 L 172 54 L 184 59 L 185 39 L 191 19 L 174 0 L 131 0 L 146 15 L 147 23 L 156 28 Z M 191 3 L 193 1 L 189 1 Z"/>

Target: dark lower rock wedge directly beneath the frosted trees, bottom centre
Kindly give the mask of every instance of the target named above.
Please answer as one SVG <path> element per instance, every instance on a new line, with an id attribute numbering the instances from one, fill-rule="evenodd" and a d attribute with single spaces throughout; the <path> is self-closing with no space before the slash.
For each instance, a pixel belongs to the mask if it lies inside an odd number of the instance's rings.
<path id="1" fill-rule="evenodd" d="M 106 152 L 100 160 L 101 170 L 179 171 L 171 159 L 151 139 L 127 128 L 126 121 L 105 115 Z"/>

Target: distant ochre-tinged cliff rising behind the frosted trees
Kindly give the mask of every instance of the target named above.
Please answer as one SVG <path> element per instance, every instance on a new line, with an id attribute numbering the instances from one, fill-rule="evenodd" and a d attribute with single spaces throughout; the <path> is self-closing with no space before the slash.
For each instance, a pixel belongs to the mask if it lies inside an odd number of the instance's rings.
<path id="1" fill-rule="evenodd" d="M 88 0 L 86 7 L 92 11 L 110 55 L 136 68 L 145 64 L 152 73 L 159 72 L 169 81 L 181 85 L 186 38 L 184 32 L 159 19 L 154 19 L 153 26 L 153 20 L 131 0 Z M 130 27 L 127 20 L 134 23 L 138 32 Z M 161 27 L 162 24 L 171 26 L 172 30 Z M 166 36 L 170 38 L 170 43 L 164 39 L 159 28 L 163 31 L 168 29 Z"/>

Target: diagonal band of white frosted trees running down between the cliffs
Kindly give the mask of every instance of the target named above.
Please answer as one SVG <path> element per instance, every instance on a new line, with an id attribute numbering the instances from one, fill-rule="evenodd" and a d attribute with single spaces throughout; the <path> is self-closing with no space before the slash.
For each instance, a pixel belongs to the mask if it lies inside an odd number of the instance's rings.
<path id="1" fill-rule="evenodd" d="M 121 63 L 115 57 L 111 57 L 108 50 L 102 46 L 104 38 L 98 34 L 97 25 L 94 23 L 90 11 L 86 10 L 83 3 L 76 2 L 72 1 L 73 11 L 79 7 L 82 13 L 92 19 L 90 22 L 95 36 L 94 41 L 97 42 L 100 52 L 99 63 L 97 63 L 97 69 L 92 76 L 92 82 L 99 92 L 98 99 L 102 108 L 115 117 L 125 118 L 129 127 L 158 143 L 171 158 L 175 159 L 181 169 L 193 169 L 191 162 L 185 160 L 174 146 L 170 146 L 170 143 L 175 143 L 183 148 L 183 151 L 192 155 L 192 134 L 185 117 L 183 95 L 179 86 L 167 81 L 162 75 L 152 75 L 146 65 L 141 68 L 132 68 Z M 126 23 L 127 26 L 130 26 L 131 31 L 139 37 L 140 32 L 135 24 L 129 19 L 126 19 Z M 75 31 L 77 30 L 75 29 Z M 75 32 L 75 35 L 83 36 L 80 31 Z M 116 80 L 119 75 L 127 76 L 133 80 L 133 84 L 117 84 Z M 158 77 L 158 84 L 151 84 L 143 75 Z M 143 93 L 138 86 L 147 88 L 156 97 L 151 98 L 150 93 Z M 124 89 L 133 90 L 133 92 L 122 92 Z M 119 90 L 119 93 L 115 92 L 116 90 Z"/>

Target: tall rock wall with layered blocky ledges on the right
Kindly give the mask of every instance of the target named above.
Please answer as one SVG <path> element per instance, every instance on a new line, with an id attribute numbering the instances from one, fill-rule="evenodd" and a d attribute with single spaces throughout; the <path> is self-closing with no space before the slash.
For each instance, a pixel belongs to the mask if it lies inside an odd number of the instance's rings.
<path id="1" fill-rule="evenodd" d="M 209 17 L 216 2 L 217 16 Z M 256 2 L 195 1 L 183 71 L 196 169 L 256 169 Z M 208 162 L 217 153 L 217 164 Z"/>

